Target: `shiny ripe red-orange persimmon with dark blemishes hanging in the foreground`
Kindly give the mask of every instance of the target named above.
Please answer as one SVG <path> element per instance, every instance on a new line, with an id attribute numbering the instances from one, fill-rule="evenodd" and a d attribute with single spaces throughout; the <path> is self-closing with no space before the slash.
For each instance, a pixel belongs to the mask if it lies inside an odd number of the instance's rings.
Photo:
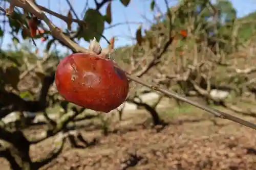
<path id="1" fill-rule="evenodd" d="M 69 55 L 55 72 L 58 92 L 67 101 L 87 109 L 110 112 L 129 92 L 125 72 L 112 60 L 92 53 Z"/>

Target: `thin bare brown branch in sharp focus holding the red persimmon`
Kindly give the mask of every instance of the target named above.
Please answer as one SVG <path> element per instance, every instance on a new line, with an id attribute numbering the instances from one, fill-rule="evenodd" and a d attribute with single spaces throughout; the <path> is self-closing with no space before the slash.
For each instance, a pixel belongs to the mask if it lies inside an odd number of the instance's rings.
<path id="1" fill-rule="evenodd" d="M 62 33 L 62 31 L 60 29 L 57 29 L 53 23 L 48 19 L 48 17 L 44 14 L 44 12 L 42 12 L 31 0 L 13 0 L 11 1 L 11 5 L 16 6 L 16 7 L 20 7 L 25 9 L 26 11 L 29 11 L 31 13 L 33 13 L 37 18 L 44 20 L 47 25 L 49 26 L 52 34 L 54 37 L 56 37 L 57 39 L 60 39 L 61 41 L 63 41 L 63 43 L 67 44 L 67 46 L 69 46 L 72 50 L 76 51 L 76 52 L 87 52 L 86 48 L 83 48 L 81 46 L 79 46 L 78 44 L 76 44 L 74 41 L 72 41 L 70 38 L 68 38 L 65 34 Z M 154 84 L 150 84 L 147 83 L 145 81 L 143 81 L 142 79 L 136 77 L 136 76 L 132 76 L 130 74 L 127 74 L 127 78 L 129 78 L 130 80 L 133 80 L 137 83 L 140 83 L 144 86 L 150 87 L 153 90 L 162 92 L 163 94 L 165 94 L 166 96 L 175 98 L 177 100 L 180 100 L 182 102 L 188 103 L 190 105 L 193 105 L 197 108 L 200 108 L 204 111 L 207 111 L 208 113 L 211 113 L 217 117 L 223 118 L 223 119 L 229 119 L 233 122 L 239 123 L 241 125 L 244 125 L 246 127 L 252 128 L 256 130 L 256 125 L 252 124 L 250 122 L 247 122 L 246 120 L 240 119 L 236 116 L 232 116 L 230 114 L 227 114 L 225 112 L 213 109 L 213 108 L 209 108 L 206 107 L 204 105 L 198 104 L 196 102 L 190 101 L 182 96 L 180 96 L 179 94 L 163 89 L 161 87 L 159 87 L 158 85 L 154 85 Z"/>

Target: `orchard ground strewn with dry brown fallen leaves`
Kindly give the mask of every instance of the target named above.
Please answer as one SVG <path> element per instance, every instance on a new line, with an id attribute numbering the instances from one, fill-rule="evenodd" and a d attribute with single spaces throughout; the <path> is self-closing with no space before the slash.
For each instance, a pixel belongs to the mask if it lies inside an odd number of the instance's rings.
<path id="1" fill-rule="evenodd" d="M 157 109 L 168 123 L 165 127 L 152 128 L 150 114 L 144 110 L 124 112 L 120 122 L 117 113 L 112 113 L 107 136 L 102 135 L 97 118 L 77 122 L 76 131 L 89 143 L 95 142 L 83 149 L 71 148 L 67 142 L 62 154 L 41 169 L 256 169 L 254 130 L 214 118 L 193 106 L 178 107 L 174 101 L 165 104 Z M 256 123 L 251 116 L 236 115 Z M 25 133 L 35 135 L 43 129 L 32 126 Z M 45 157 L 55 147 L 53 141 L 49 138 L 32 145 L 31 157 Z M 9 169 L 4 159 L 0 165 Z"/>

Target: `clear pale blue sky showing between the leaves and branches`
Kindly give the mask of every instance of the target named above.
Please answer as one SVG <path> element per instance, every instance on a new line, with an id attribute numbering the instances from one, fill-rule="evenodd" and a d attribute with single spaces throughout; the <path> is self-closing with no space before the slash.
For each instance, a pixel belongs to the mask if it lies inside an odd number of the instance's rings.
<path id="1" fill-rule="evenodd" d="M 89 1 L 89 7 L 94 8 L 94 0 L 88 0 Z M 98 0 L 99 2 L 101 0 Z M 256 6 L 253 5 L 254 0 L 232 0 L 234 8 L 236 8 L 238 12 L 238 16 L 242 17 L 250 12 L 256 11 Z M 69 10 L 69 6 L 66 2 L 66 0 L 37 0 L 36 1 L 39 5 L 49 7 L 52 11 L 61 13 L 61 14 L 67 14 Z M 81 13 L 83 11 L 84 6 L 86 6 L 86 1 L 81 0 L 70 0 L 70 2 L 73 4 L 73 7 L 76 11 L 76 13 L 79 15 L 80 19 L 82 18 Z M 156 1 L 158 3 L 159 9 L 165 13 L 166 7 L 163 0 Z M 168 0 L 169 6 L 173 6 L 177 4 L 178 0 Z M 246 2 L 246 3 L 245 3 Z M 124 7 L 119 0 L 114 0 L 112 2 L 112 25 L 115 25 L 116 23 L 124 23 L 126 21 L 128 22 L 141 22 L 143 23 L 143 28 L 148 28 L 151 25 L 151 22 L 153 20 L 153 14 L 150 11 L 150 4 L 151 0 L 131 0 L 131 4 L 128 7 Z M 3 4 L 1 4 L 3 6 Z M 105 14 L 106 6 L 103 6 L 101 8 L 100 12 L 102 14 Z M 144 19 L 147 18 L 148 20 Z M 51 18 L 51 17 L 50 17 Z M 51 18 L 53 23 L 60 27 L 60 28 L 66 28 L 66 23 L 52 17 Z M 75 25 L 74 25 L 75 26 Z M 106 24 L 105 27 L 110 27 L 110 25 Z M 104 36 L 108 39 L 110 39 L 112 36 L 117 37 L 117 41 L 115 42 L 115 47 L 123 46 L 127 44 L 133 43 L 133 40 L 131 40 L 131 37 L 135 36 L 136 29 L 139 27 L 138 24 L 131 24 L 129 27 L 127 25 L 119 25 L 117 27 L 113 27 L 111 29 L 107 29 L 104 31 Z M 9 29 L 9 27 L 7 27 Z M 8 35 L 5 35 L 4 37 L 4 44 L 2 48 L 7 49 L 8 44 L 11 43 L 11 37 Z M 40 40 L 36 41 L 39 48 L 44 48 L 46 43 L 42 43 Z M 106 46 L 107 43 L 104 39 L 101 39 L 100 41 L 102 46 Z M 84 47 L 88 47 L 88 43 L 84 41 L 79 42 L 80 45 Z M 60 47 L 63 49 L 62 47 Z"/>

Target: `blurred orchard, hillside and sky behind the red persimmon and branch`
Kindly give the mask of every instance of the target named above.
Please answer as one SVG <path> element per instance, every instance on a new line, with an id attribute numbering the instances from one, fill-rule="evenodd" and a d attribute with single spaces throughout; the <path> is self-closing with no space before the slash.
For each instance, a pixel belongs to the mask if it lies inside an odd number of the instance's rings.
<path id="1" fill-rule="evenodd" d="M 74 50 L 24 2 L 0 1 L 1 169 L 256 169 L 253 129 L 141 84 L 108 114 L 65 101 L 54 76 Z M 256 123 L 254 1 L 34 3 L 82 47 L 114 37 L 129 74 Z"/>

